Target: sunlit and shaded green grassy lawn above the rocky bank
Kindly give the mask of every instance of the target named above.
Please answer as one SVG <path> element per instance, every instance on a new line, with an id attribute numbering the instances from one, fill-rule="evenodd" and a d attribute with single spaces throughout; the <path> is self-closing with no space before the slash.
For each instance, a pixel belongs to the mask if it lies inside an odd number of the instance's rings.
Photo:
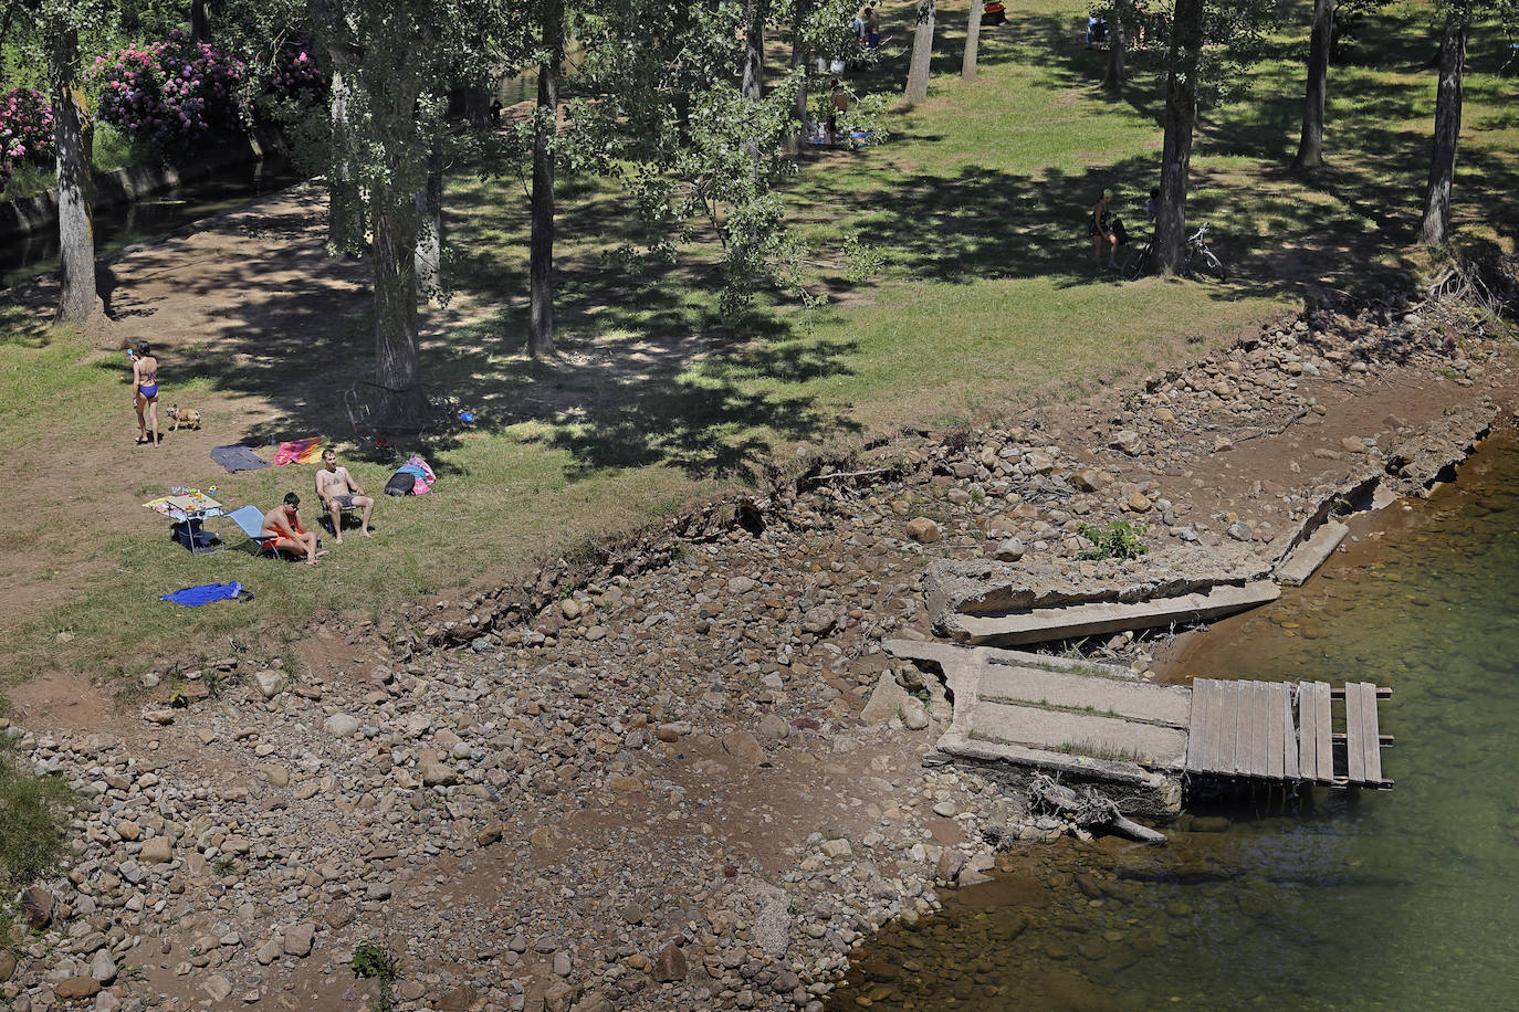
<path id="1" fill-rule="evenodd" d="M 854 86 L 899 86 L 908 9 L 889 8 L 898 20 L 887 24 L 887 58 L 854 76 Z M 161 649 L 225 654 L 229 639 L 273 652 L 302 618 L 469 584 L 750 481 L 772 455 L 797 446 L 1075 398 L 1366 276 L 1407 281 L 1419 270 L 1407 243 L 1432 121 L 1434 74 L 1420 68 L 1432 52 L 1419 27 L 1423 6 L 1391 8 L 1363 32 L 1364 64 L 1331 70 L 1331 167 L 1311 182 L 1284 171 L 1297 140 L 1305 32 L 1279 39 L 1255 68 L 1249 97 L 1203 111 L 1191 217 L 1214 223 L 1217 249 L 1236 270 L 1227 285 L 1116 284 L 1094 270 L 1085 215 L 1101 187 L 1118 190 L 1135 231 L 1142 225 L 1139 206 L 1159 165 L 1162 82 L 1141 59 L 1121 94 L 1104 93 L 1104 55 L 1086 50 L 1078 32 L 1085 9 L 1080 0 L 1010 5 L 1007 24 L 983 35 L 980 79 L 965 85 L 966 5 L 940 5 L 930 100 L 895 114 L 881 147 L 804 158 L 791 200 L 823 264 L 817 285 L 835 296 L 822 310 L 758 305 L 738 325 L 725 323 L 700 249 L 681 269 L 629 276 L 605 266 L 600 255 L 635 241 L 636 228 L 608 184 L 568 181 L 564 361 L 533 366 L 521 357 L 523 191 L 515 181 L 453 179 L 453 269 L 472 310 L 434 328 L 424 369 L 478 423 L 419 446 L 439 470 L 436 492 L 381 499 L 378 542 L 355 534 L 314 569 L 238 551 L 191 558 L 140 507 L 137 516 L 106 522 L 102 513 L 62 528 L 47 510 L 12 511 L 0 525 L 0 560 L 46 551 L 52 577 L 11 584 L 8 593 L 35 601 L 12 611 L 23 618 L 5 630 L 0 680 L 50 665 L 131 671 Z M 1502 53 L 1483 39 L 1467 79 L 1457 226 L 1467 246 L 1513 249 L 1519 80 L 1495 76 Z M 772 58 L 781 55 L 775 47 Z M 886 258 L 881 276 L 858 288 L 829 267 L 848 235 Z M 32 452 L 35 467 L 49 458 L 88 466 L 102 434 L 120 431 L 120 363 L 105 369 L 81 343 L 20 317 L 8 329 L 0 438 Z M 339 337 L 311 338 L 352 341 L 324 352 L 351 370 L 345 385 L 368 372 L 363 334 L 355 320 Z M 208 363 L 216 355 L 202 352 Z M 176 376 L 176 391 L 188 401 L 245 390 L 229 369 Z M 281 431 L 346 429 L 330 410 L 279 407 L 290 422 Z M 349 463 L 377 492 L 398 461 L 371 449 Z M 176 472 L 175 484 L 216 484 L 232 504 L 267 507 L 292 487 L 305 496 L 311 482 L 310 467 L 237 476 L 210 461 L 201 467 Z M 118 484 L 126 487 L 117 502 L 166 492 L 149 469 Z M 240 580 L 257 599 L 201 610 L 158 601 L 216 580 Z"/>

